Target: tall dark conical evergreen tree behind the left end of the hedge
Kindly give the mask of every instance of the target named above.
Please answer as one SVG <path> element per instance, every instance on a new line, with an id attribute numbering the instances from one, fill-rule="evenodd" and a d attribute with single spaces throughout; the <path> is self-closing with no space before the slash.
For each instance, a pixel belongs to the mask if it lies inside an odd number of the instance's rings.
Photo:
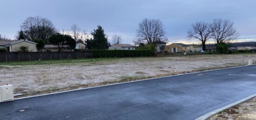
<path id="1" fill-rule="evenodd" d="M 104 29 L 100 25 L 98 28 L 91 33 L 93 39 L 87 41 L 88 48 L 94 50 L 106 50 L 108 49 L 108 38 L 104 33 Z M 89 46 L 90 45 L 90 46 Z"/>

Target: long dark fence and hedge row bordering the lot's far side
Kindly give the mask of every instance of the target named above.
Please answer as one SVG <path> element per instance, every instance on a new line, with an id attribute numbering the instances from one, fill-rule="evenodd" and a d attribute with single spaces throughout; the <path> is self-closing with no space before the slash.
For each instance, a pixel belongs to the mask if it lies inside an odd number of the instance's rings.
<path id="1" fill-rule="evenodd" d="M 147 57 L 148 50 L 87 50 L 63 52 L 0 52 L 0 62 L 79 59 L 90 57 Z"/>

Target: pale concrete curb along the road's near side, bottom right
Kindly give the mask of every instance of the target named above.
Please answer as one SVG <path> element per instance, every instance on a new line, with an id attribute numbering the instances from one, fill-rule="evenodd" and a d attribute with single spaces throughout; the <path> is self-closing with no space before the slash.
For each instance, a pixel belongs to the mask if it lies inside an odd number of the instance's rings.
<path id="1" fill-rule="evenodd" d="M 233 106 L 236 106 L 236 105 L 238 105 L 238 104 L 241 104 L 241 103 L 243 103 L 244 101 L 248 101 L 248 100 L 250 100 L 250 99 L 252 99 L 252 98 L 254 98 L 254 97 L 256 97 L 256 94 L 250 95 L 250 96 L 248 96 L 248 97 L 246 97 L 246 98 L 243 98 L 242 100 L 236 101 L 236 102 L 231 103 L 231 104 L 229 104 L 229 105 L 227 105 L 227 106 L 221 107 L 221 108 L 216 109 L 216 110 L 214 110 L 214 111 L 212 111 L 212 112 L 209 112 L 209 113 L 207 113 L 207 114 L 204 114 L 204 115 L 202 115 L 202 116 L 196 118 L 195 120 L 206 120 L 206 119 L 209 119 L 211 116 L 216 115 L 216 114 L 218 114 L 218 113 L 224 111 L 225 109 L 228 109 L 228 108 L 230 108 L 230 107 L 233 107 Z"/>

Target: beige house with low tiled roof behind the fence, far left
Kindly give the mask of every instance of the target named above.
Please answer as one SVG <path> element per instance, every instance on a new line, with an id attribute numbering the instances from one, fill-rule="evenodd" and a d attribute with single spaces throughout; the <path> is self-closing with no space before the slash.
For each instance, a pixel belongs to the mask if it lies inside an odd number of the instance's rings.
<path id="1" fill-rule="evenodd" d="M 29 52 L 37 52 L 36 44 L 28 40 L 0 40 L 0 47 L 6 48 L 7 52 L 19 52 L 22 46 Z"/>

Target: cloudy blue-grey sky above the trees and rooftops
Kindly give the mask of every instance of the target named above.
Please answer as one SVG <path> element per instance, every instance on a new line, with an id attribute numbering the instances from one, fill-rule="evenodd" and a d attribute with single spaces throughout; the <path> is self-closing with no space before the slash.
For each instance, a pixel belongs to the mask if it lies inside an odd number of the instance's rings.
<path id="1" fill-rule="evenodd" d="M 144 18 L 160 19 L 170 43 L 189 42 L 191 23 L 221 18 L 234 21 L 237 42 L 256 41 L 255 0 L 0 0 L 0 34 L 14 39 L 30 16 L 50 19 L 60 30 L 76 24 L 91 32 L 101 25 L 109 39 L 119 34 L 128 44 Z"/>

